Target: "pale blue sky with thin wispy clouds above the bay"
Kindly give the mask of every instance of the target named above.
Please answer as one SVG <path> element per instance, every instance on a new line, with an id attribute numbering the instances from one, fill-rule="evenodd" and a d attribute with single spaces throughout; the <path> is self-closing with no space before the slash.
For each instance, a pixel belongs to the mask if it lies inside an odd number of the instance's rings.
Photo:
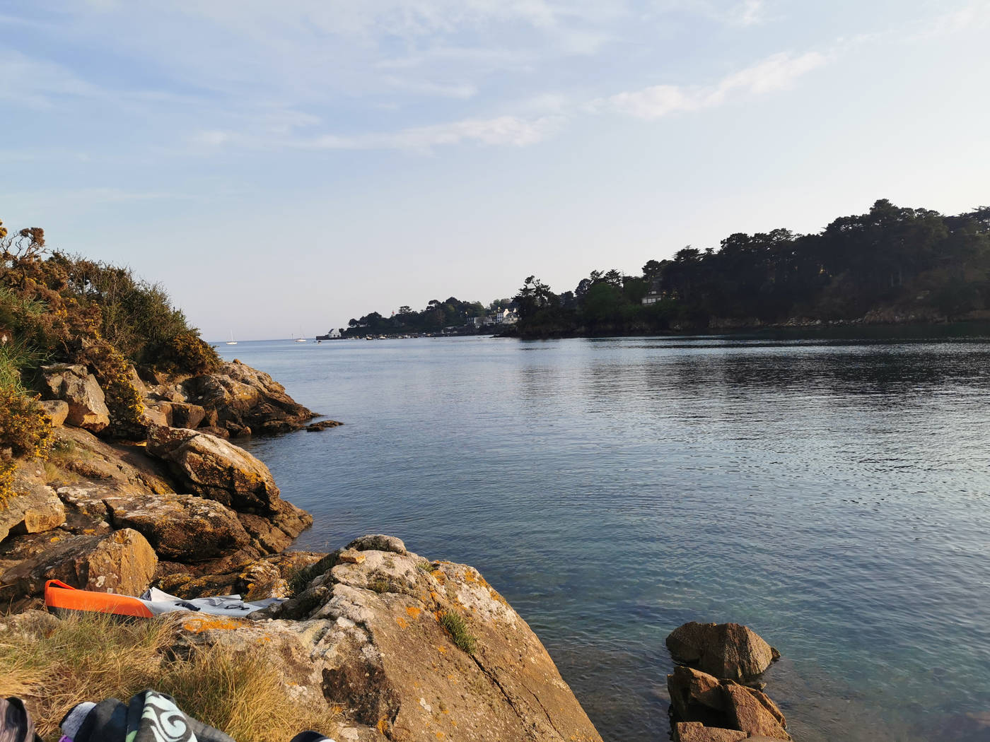
<path id="1" fill-rule="evenodd" d="M 0 220 L 312 336 L 990 204 L 990 0 L 4 0 Z"/>

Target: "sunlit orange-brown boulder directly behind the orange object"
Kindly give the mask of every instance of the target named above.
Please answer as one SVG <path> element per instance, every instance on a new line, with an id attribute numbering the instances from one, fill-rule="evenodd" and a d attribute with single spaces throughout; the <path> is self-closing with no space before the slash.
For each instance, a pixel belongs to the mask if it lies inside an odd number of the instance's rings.
<path id="1" fill-rule="evenodd" d="M 106 536 L 52 540 L 50 548 L 4 572 L 0 601 L 39 596 L 47 580 L 61 580 L 81 590 L 141 595 L 158 561 L 145 537 L 131 528 Z"/>

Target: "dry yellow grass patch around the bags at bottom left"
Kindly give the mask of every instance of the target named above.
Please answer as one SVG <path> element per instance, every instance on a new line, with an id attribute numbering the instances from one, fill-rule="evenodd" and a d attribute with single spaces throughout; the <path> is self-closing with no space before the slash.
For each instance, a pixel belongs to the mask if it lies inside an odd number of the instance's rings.
<path id="1" fill-rule="evenodd" d="M 24 698 L 40 733 L 83 700 L 126 701 L 145 689 L 174 696 L 186 714 L 239 742 L 286 742 L 304 729 L 337 730 L 338 709 L 301 707 L 286 693 L 268 659 L 221 647 L 176 659 L 166 649 L 171 626 L 161 620 L 121 623 L 109 616 L 73 616 L 41 633 L 0 634 L 0 696 Z"/>

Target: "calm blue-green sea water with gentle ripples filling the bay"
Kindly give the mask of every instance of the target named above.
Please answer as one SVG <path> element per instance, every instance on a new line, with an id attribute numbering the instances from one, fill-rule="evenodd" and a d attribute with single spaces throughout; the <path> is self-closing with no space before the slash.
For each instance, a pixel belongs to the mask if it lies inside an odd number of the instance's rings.
<path id="1" fill-rule="evenodd" d="M 746 623 L 798 740 L 990 740 L 990 341 L 242 342 L 343 427 L 247 447 L 315 524 L 477 567 L 610 742 Z"/>

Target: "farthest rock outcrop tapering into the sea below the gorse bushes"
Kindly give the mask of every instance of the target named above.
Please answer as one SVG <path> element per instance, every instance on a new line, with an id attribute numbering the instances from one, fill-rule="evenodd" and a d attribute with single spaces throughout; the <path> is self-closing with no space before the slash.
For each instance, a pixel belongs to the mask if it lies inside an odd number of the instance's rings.
<path id="1" fill-rule="evenodd" d="M 210 424 L 233 435 L 295 430 L 315 417 L 268 374 L 237 360 L 216 374 L 187 379 L 183 389 L 188 402 L 217 413 L 217 422 Z"/>

